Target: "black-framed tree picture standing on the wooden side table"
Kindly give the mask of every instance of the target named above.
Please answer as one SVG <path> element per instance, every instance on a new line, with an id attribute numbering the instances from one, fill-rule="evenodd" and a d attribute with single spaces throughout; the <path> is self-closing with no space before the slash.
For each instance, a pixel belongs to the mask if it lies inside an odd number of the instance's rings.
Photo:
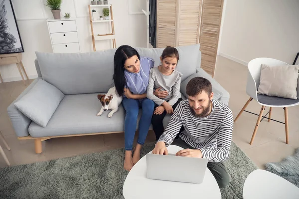
<path id="1" fill-rule="evenodd" d="M 0 54 L 22 53 L 24 47 L 11 0 L 0 0 Z"/>

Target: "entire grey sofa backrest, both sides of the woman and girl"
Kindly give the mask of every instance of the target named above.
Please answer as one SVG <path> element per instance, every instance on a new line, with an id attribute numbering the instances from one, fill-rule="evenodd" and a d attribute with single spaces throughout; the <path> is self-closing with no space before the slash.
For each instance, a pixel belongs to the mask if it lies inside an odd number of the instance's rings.
<path id="1" fill-rule="evenodd" d="M 180 60 L 177 70 L 182 81 L 200 68 L 199 44 L 177 47 Z M 136 48 L 141 57 L 161 64 L 164 48 Z M 38 76 L 56 86 L 65 95 L 107 92 L 113 86 L 113 57 L 116 49 L 89 53 L 42 53 L 36 52 Z"/>

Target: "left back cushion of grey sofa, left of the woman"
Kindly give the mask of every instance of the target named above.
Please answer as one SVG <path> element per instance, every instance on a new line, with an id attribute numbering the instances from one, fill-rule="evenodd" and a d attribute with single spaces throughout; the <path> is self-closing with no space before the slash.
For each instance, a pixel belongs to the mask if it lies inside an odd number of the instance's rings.
<path id="1" fill-rule="evenodd" d="M 36 52 L 42 78 L 65 95 L 107 92 L 115 49 L 90 53 Z"/>

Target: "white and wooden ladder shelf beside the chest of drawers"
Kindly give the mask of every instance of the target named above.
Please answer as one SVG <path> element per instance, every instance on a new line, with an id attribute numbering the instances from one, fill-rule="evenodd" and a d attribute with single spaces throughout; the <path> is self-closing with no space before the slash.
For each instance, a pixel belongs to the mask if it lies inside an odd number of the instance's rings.
<path id="1" fill-rule="evenodd" d="M 91 10 L 92 10 L 92 8 L 97 8 L 97 7 L 104 7 L 104 8 L 107 7 L 107 8 L 109 8 L 110 19 L 109 20 L 93 20 Z M 90 19 L 93 50 L 96 51 L 95 41 L 99 41 L 99 40 L 111 40 L 113 48 L 116 48 L 112 5 L 111 4 L 109 4 L 109 5 L 88 5 L 88 11 L 89 11 L 89 19 Z M 111 31 L 112 32 L 108 33 L 108 34 L 96 34 L 95 35 L 94 34 L 93 24 L 94 23 L 107 23 L 107 22 L 111 23 Z"/>

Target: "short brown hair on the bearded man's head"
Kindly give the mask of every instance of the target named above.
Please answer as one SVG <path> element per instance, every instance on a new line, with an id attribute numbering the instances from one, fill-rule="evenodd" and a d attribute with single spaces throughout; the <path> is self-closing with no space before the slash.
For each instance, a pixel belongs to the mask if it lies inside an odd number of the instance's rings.
<path id="1" fill-rule="evenodd" d="M 203 77 L 195 77 L 192 78 L 186 88 L 186 93 L 188 96 L 196 96 L 200 94 L 202 91 L 207 92 L 210 96 L 212 93 L 212 84 L 209 80 Z"/>

